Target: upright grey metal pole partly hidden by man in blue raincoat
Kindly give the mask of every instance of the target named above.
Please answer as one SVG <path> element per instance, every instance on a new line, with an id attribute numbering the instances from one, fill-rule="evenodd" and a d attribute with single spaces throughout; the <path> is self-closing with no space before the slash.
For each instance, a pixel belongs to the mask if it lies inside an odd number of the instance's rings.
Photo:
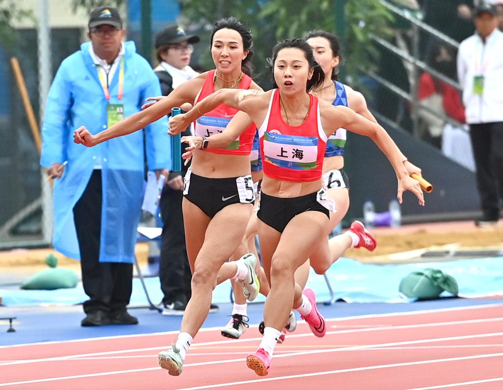
<path id="1" fill-rule="evenodd" d="M 51 86 L 52 70 L 50 61 L 50 27 L 49 27 L 49 0 L 40 0 L 39 18 L 37 29 L 38 43 L 38 80 L 39 80 L 39 113 L 40 123 L 44 120 L 45 102 Z M 41 126 L 40 126 L 41 127 Z M 41 170 L 42 187 L 42 235 L 46 243 L 50 243 L 52 237 L 52 191 L 51 185 Z"/>

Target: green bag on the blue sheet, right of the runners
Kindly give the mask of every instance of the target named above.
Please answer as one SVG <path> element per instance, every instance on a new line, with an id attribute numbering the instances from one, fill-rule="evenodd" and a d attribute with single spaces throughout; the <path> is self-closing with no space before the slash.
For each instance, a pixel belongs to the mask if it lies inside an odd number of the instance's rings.
<path id="1" fill-rule="evenodd" d="M 398 290 L 408 298 L 433 299 L 438 298 L 444 291 L 457 295 L 458 283 L 441 270 L 425 268 L 411 272 L 403 278 Z"/>

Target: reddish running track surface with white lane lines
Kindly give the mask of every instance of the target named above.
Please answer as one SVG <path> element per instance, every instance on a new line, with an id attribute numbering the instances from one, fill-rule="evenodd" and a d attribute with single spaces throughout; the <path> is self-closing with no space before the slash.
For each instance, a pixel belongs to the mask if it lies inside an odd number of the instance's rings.
<path id="1" fill-rule="evenodd" d="M 176 333 L 0 347 L 0 390 L 503 389 L 503 304 L 332 318 L 321 339 L 299 323 L 265 377 L 244 361 L 257 327 L 203 329 L 178 377 L 157 366 Z"/>

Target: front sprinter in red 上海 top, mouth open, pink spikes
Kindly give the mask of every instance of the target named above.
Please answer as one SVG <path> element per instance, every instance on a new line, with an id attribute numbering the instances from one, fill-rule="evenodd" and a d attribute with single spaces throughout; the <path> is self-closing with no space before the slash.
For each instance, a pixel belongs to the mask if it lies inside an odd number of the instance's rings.
<path id="1" fill-rule="evenodd" d="M 187 158 L 196 149 L 225 147 L 252 121 L 259 127 L 264 179 L 258 230 L 271 290 L 264 307 L 264 337 L 257 352 L 246 359 L 248 367 L 259 375 L 268 373 L 274 347 L 292 306 L 316 336 L 325 334 L 314 291 L 305 289 L 302 293 L 294 273 L 316 246 L 321 245 L 325 255 L 317 258 L 313 267 L 332 263 L 326 229 L 334 203 L 326 199 L 322 180 L 328 137 L 344 127 L 372 138 L 396 173 L 399 202 L 402 193 L 410 190 L 419 204 L 424 205 L 419 183 L 408 176 L 400 151 L 381 126 L 347 107 L 332 106 L 308 93 L 323 82 L 324 76 L 304 40 L 278 43 L 273 49 L 272 64 L 278 89 L 268 92 L 222 89 L 188 113 L 170 120 L 170 133 L 177 134 L 187 123 L 221 103 L 243 111 L 234 116 L 222 134 L 209 138 L 184 137 L 190 144 L 184 154 Z"/>

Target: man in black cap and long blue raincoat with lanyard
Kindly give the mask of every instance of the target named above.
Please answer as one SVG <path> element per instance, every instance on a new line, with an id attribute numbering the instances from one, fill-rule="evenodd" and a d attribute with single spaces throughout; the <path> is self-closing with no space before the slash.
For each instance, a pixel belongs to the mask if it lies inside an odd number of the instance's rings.
<path id="1" fill-rule="evenodd" d="M 118 11 L 91 13 L 80 50 L 63 60 L 52 83 L 42 127 L 41 165 L 54 180 L 53 245 L 80 259 L 82 326 L 134 324 L 126 311 L 132 289 L 136 228 L 140 219 L 146 161 L 157 174 L 171 169 L 167 119 L 144 132 L 95 148 L 73 143 L 75 128 L 98 133 L 159 96 L 159 81 L 125 30 Z"/>

